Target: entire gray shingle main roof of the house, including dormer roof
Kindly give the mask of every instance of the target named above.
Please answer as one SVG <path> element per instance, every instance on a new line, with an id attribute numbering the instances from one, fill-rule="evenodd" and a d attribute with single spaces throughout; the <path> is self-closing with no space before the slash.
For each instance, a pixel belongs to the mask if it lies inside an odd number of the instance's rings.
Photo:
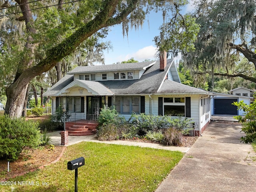
<path id="1" fill-rule="evenodd" d="M 98 94 L 116 94 L 116 95 L 129 95 L 129 94 L 209 94 L 204 90 L 193 88 L 190 86 L 183 85 L 172 80 L 164 80 L 164 77 L 167 73 L 167 70 L 170 66 L 174 64 L 173 59 L 167 60 L 167 66 L 165 71 L 159 70 L 159 61 L 156 61 L 153 65 L 152 62 L 142 62 L 142 63 L 128 63 L 128 64 L 113 64 L 113 65 L 104 65 L 104 66 L 86 66 L 87 72 L 95 72 L 102 70 L 113 70 L 117 71 L 118 69 L 124 70 L 129 67 L 137 67 L 137 69 L 143 69 L 146 67 L 144 74 L 140 79 L 136 80 L 109 80 L 109 81 L 86 81 L 86 80 L 76 80 L 81 86 L 88 87 L 91 90 L 94 90 Z M 122 66 L 122 68 L 120 67 Z M 93 69 L 93 68 L 96 68 Z M 134 70 L 134 68 L 131 68 Z M 78 67 L 78 69 L 72 70 L 72 74 L 67 74 L 59 82 L 57 82 L 52 88 L 47 90 L 44 93 L 44 96 L 55 96 L 60 90 L 68 86 L 68 84 L 74 81 L 74 75 L 76 73 L 84 73 L 84 67 Z M 164 82 L 163 82 L 164 80 Z M 161 86 L 162 84 L 162 86 Z M 160 87 L 161 86 L 161 87 Z M 160 88 L 160 89 L 159 89 Z"/>

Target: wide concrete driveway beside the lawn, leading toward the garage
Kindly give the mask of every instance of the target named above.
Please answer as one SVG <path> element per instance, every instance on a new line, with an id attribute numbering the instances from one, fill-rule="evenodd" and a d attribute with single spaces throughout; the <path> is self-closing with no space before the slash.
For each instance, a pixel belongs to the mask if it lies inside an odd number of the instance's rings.
<path id="1" fill-rule="evenodd" d="M 255 192 L 256 154 L 240 130 L 210 123 L 156 192 Z"/>

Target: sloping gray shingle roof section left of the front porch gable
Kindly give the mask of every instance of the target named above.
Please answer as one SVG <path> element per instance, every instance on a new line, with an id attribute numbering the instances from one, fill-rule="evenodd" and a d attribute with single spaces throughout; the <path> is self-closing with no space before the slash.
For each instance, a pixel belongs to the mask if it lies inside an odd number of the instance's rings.
<path id="1" fill-rule="evenodd" d="M 68 84 L 74 81 L 74 75 L 65 75 L 54 86 L 44 92 L 43 96 L 55 96 L 60 90 L 66 87 Z"/>

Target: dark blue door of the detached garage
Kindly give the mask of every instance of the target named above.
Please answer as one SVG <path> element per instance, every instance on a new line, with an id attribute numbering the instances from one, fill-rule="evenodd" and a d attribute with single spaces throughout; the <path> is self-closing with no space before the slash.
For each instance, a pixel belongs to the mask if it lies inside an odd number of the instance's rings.
<path id="1" fill-rule="evenodd" d="M 232 105 L 237 99 L 214 99 L 215 115 L 238 115 L 237 107 Z"/>

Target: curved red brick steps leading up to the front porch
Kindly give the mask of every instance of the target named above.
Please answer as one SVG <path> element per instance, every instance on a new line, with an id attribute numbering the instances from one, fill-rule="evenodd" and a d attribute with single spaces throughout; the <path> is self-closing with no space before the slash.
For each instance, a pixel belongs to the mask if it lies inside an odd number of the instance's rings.
<path id="1" fill-rule="evenodd" d="M 94 135 L 98 123 L 79 120 L 76 122 L 66 122 L 66 130 L 70 136 Z"/>

